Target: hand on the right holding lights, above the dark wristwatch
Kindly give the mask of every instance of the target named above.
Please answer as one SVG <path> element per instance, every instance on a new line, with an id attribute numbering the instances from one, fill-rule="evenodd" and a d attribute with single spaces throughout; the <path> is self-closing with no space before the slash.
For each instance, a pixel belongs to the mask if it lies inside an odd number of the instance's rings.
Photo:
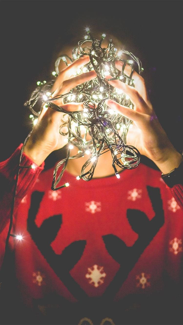
<path id="1" fill-rule="evenodd" d="M 116 67 L 121 71 L 122 62 L 117 61 Z M 130 75 L 131 68 L 126 65 L 124 72 Z M 106 79 L 112 78 L 107 75 Z M 149 101 L 144 79 L 134 71 L 134 86 L 120 80 L 109 80 L 108 83 L 122 90 L 134 104 L 134 110 L 122 106 L 113 100 L 106 104 L 118 113 L 133 121 L 133 127 L 127 133 L 127 144 L 136 147 L 142 155 L 147 156 L 162 170 L 164 174 L 179 166 L 182 157 L 173 147 Z"/>

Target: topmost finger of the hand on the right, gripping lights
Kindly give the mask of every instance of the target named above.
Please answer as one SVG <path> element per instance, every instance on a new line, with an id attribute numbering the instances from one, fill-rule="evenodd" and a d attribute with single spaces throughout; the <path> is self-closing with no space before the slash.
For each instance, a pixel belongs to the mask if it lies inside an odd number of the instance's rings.
<path id="1" fill-rule="evenodd" d="M 116 68 L 118 70 L 120 70 L 120 71 L 122 70 L 123 62 L 116 61 L 115 65 L 116 65 Z M 130 76 L 131 72 L 132 72 L 131 66 L 129 64 L 126 64 L 125 69 L 124 69 L 124 73 L 127 76 Z M 138 92 L 142 96 L 142 98 L 149 104 L 150 100 L 149 100 L 149 97 L 148 97 L 148 92 L 147 92 L 147 89 L 146 89 L 146 84 L 145 84 L 144 78 L 142 76 L 140 76 L 136 71 L 133 72 L 132 78 L 134 79 L 135 88 L 138 90 Z"/>

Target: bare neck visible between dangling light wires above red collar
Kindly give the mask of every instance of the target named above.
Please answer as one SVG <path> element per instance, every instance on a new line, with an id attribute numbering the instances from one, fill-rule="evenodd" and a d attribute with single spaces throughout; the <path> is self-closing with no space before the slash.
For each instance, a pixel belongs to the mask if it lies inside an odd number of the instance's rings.
<path id="1" fill-rule="evenodd" d="M 77 154 L 78 148 L 74 147 L 72 149 L 71 154 L 74 156 Z M 69 159 L 66 170 L 74 176 L 81 175 L 81 168 L 84 165 L 84 163 L 88 160 L 90 156 L 89 155 L 84 155 L 84 157 L 80 157 L 77 159 Z M 91 167 L 91 166 L 90 166 Z M 86 171 L 89 170 L 90 167 L 87 167 Z M 117 171 L 120 173 L 122 169 L 116 165 Z M 104 154 L 102 154 L 98 158 L 97 165 L 95 167 L 95 171 L 93 174 L 93 178 L 101 178 L 101 177 L 107 177 L 115 175 L 114 169 L 112 167 L 112 156 L 111 152 L 107 151 Z"/>

